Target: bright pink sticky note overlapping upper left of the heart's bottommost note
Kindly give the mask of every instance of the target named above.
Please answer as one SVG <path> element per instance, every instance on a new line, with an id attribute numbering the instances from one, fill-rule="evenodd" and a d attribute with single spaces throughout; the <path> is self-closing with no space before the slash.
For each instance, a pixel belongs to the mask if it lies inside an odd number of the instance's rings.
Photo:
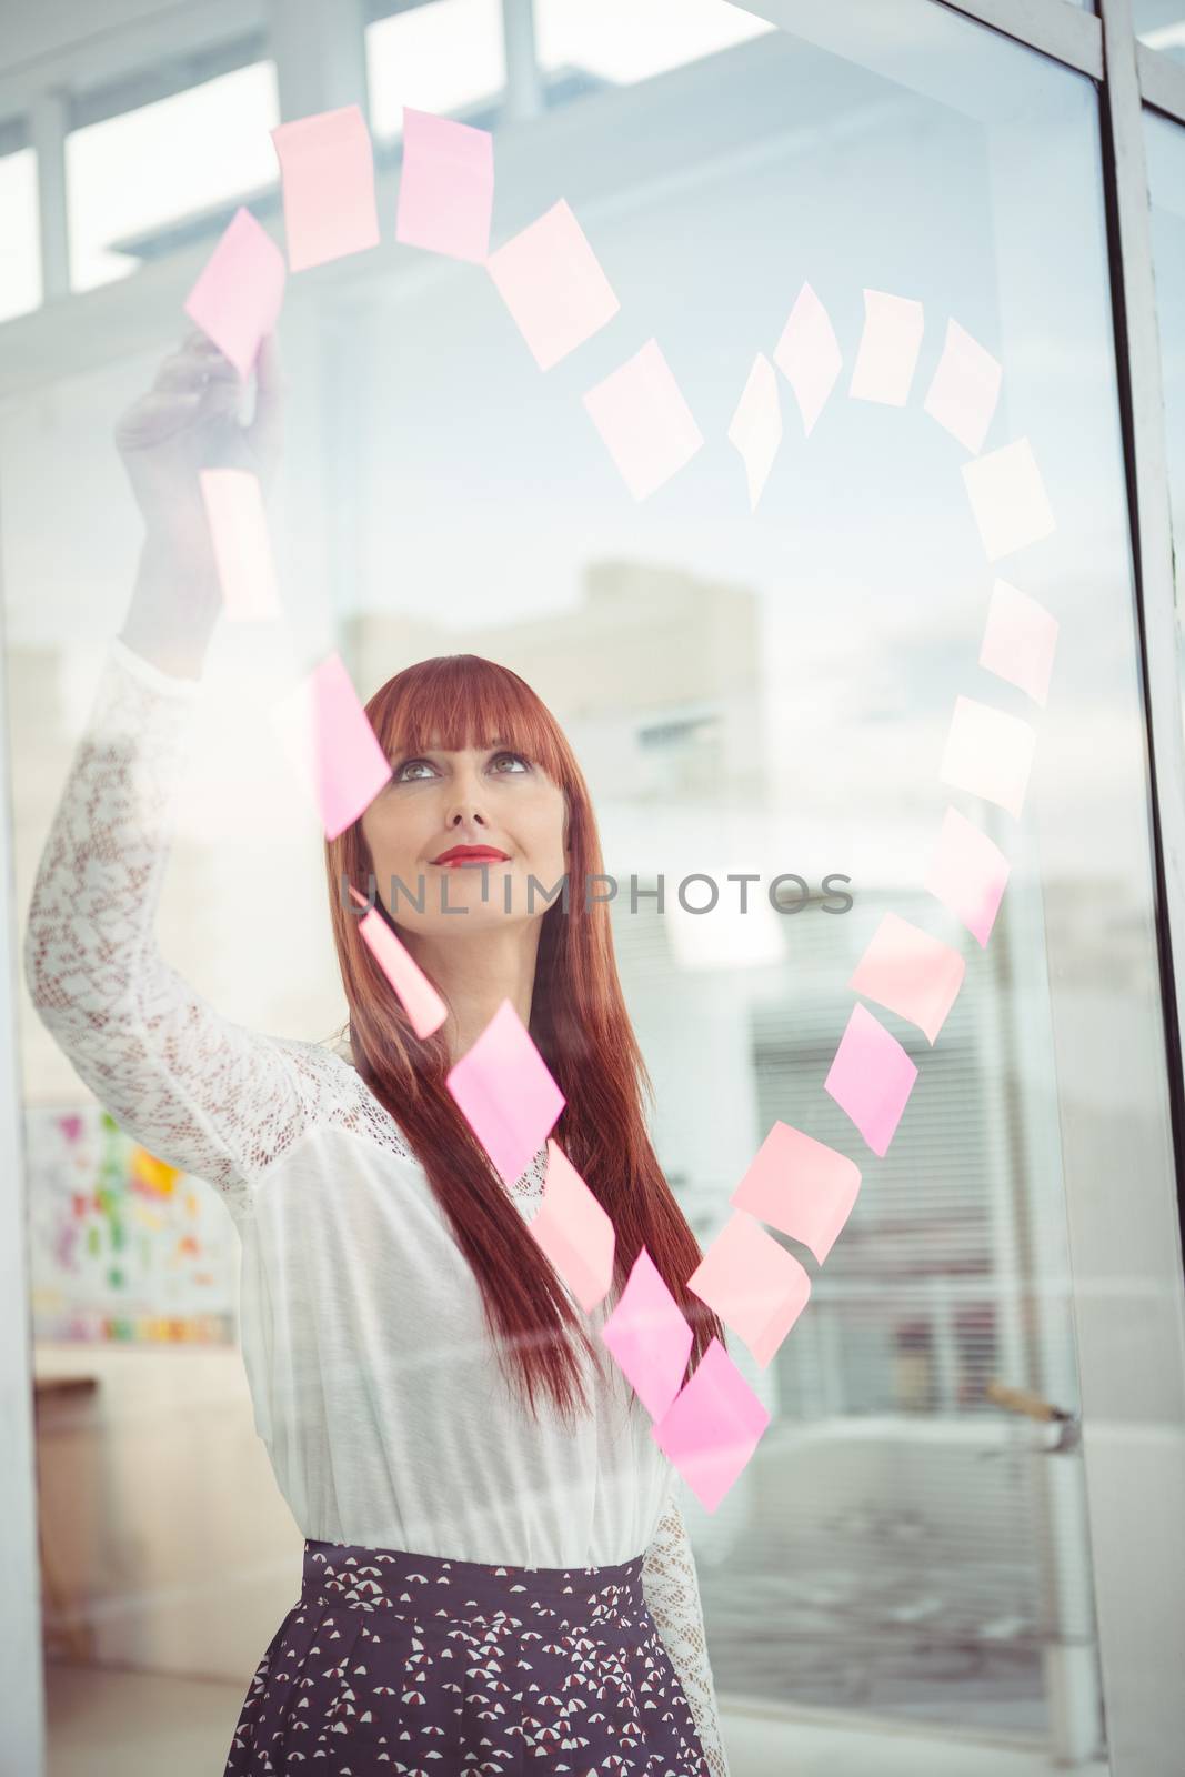
<path id="1" fill-rule="evenodd" d="M 767 1425 L 769 1409 L 714 1338 L 688 1386 L 652 1427 L 652 1436 L 700 1505 L 714 1512 Z"/>

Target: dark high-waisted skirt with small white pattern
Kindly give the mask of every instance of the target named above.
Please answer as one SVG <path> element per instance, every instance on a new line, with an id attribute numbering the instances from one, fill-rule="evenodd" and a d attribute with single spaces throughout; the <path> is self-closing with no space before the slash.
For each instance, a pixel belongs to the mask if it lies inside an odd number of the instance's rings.
<path id="1" fill-rule="evenodd" d="M 641 1594 L 616 1567 L 485 1567 L 304 1546 L 224 1777 L 709 1777 Z"/>

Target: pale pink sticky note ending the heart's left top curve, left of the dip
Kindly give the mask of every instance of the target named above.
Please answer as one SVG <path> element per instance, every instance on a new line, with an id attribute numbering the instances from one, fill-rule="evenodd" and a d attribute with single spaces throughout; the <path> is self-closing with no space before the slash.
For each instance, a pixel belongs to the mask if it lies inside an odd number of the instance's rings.
<path id="1" fill-rule="evenodd" d="M 682 469 L 704 444 L 656 339 L 585 396 L 634 499 L 645 499 Z"/>

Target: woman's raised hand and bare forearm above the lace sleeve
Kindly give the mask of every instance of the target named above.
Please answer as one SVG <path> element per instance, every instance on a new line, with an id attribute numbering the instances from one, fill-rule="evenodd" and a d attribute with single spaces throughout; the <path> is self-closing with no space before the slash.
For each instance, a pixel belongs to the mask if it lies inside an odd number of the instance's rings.
<path id="1" fill-rule="evenodd" d="M 265 490 L 281 450 L 282 382 L 275 338 L 259 347 L 256 407 L 240 419 L 243 382 L 192 332 L 123 414 L 115 446 L 144 515 L 144 553 L 123 640 L 171 672 L 195 675 L 222 604 L 201 494 L 201 469 L 251 469 Z"/>

